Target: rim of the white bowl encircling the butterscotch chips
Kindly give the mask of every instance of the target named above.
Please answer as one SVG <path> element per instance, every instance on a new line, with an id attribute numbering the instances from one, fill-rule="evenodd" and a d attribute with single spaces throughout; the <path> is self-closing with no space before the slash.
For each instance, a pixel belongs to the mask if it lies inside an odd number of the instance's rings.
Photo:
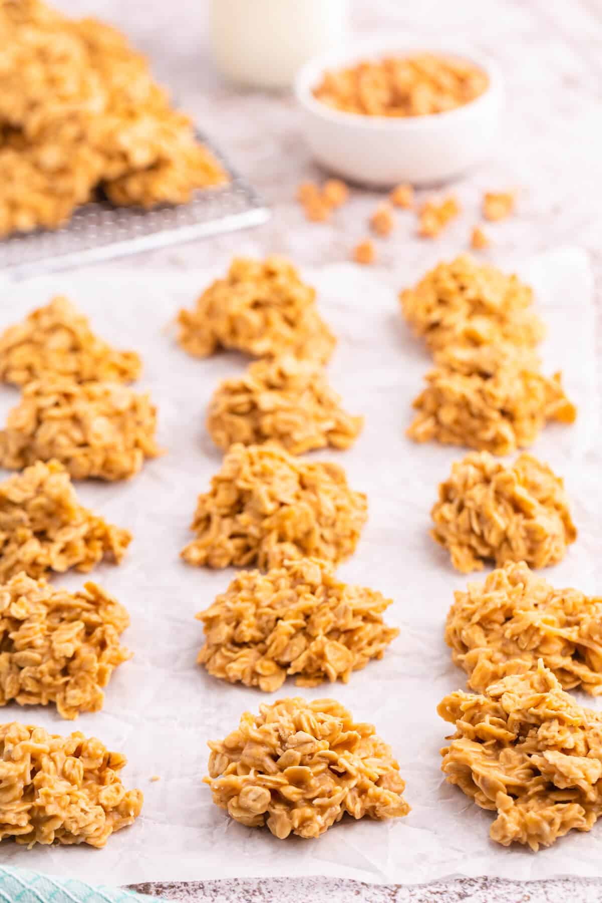
<path id="1" fill-rule="evenodd" d="M 442 113 L 431 113 L 428 116 L 364 116 L 361 113 L 347 113 L 344 110 L 338 110 L 329 107 L 321 100 L 314 98 L 312 88 L 319 83 L 319 79 L 326 70 L 337 69 L 340 67 L 353 65 L 354 63 L 367 60 L 378 60 L 384 56 L 409 55 L 412 53 L 440 53 L 444 56 L 455 57 L 458 60 L 465 60 L 474 63 L 479 69 L 486 73 L 489 84 L 483 94 L 480 94 L 474 100 L 468 101 L 461 107 L 452 110 L 445 110 Z M 345 50 L 328 51 L 320 53 L 318 56 L 312 57 L 297 72 L 294 79 L 294 90 L 300 103 L 310 109 L 310 112 L 317 114 L 330 122 L 345 123 L 347 126 L 357 126 L 365 129 L 387 129 L 396 131 L 409 131 L 412 129 L 428 130 L 437 128 L 443 122 L 449 122 L 451 119 L 461 119 L 466 116 L 469 111 L 473 111 L 475 107 L 484 103 L 493 93 L 499 93 L 501 90 L 501 77 L 495 65 L 483 59 L 477 52 L 472 50 L 464 50 L 461 47 L 450 47 L 449 44 L 440 46 L 438 44 L 425 47 L 422 43 L 402 43 L 402 42 L 361 42 L 347 46 Z"/>

